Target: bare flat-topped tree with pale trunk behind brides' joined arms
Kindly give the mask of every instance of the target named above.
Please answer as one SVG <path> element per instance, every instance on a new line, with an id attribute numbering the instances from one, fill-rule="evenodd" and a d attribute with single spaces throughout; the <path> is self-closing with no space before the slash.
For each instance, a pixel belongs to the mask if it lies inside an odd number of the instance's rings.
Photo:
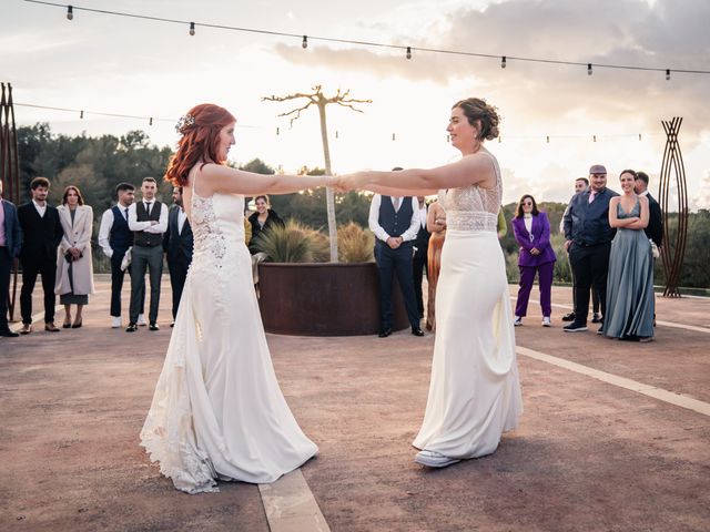
<path id="1" fill-rule="evenodd" d="M 288 94 L 287 96 L 272 95 L 272 96 L 262 98 L 262 101 L 266 100 L 270 102 L 285 102 L 288 100 L 306 99 L 307 103 L 305 105 L 302 105 L 301 108 L 292 109 L 291 111 L 278 115 L 278 116 L 292 116 L 295 114 L 295 116 L 291 119 L 291 125 L 293 125 L 294 121 L 301 116 L 301 113 L 306 109 L 308 109 L 311 105 L 316 105 L 318 108 L 318 115 L 321 117 L 321 140 L 323 142 L 323 155 L 325 158 L 325 172 L 327 175 L 333 175 L 333 170 L 331 167 L 331 149 L 328 146 L 328 132 L 327 132 L 327 124 L 325 120 L 326 105 L 331 103 L 336 103 L 344 108 L 349 108 L 353 111 L 362 113 L 363 111 L 361 111 L 359 109 L 356 109 L 353 104 L 354 103 L 372 103 L 372 100 L 352 99 L 349 98 L 349 93 L 351 93 L 349 90 L 341 93 L 341 90 L 338 89 L 337 94 L 335 94 L 332 98 L 326 98 L 323 94 L 321 85 L 315 85 L 312 90 L 313 92 L 310 94 L 297 92 L 295 94 Z M 331 241 L 331 262 L 337 263 L 338 255 L 337 255 L 337 227 L 335 223 L 335 194 L 333 193 L 333 188 L 331 188 L 329 186 L 326 187 L 325 194 L 326 194 L 326 211 L 327 211 L 327 219 L 328 219 L 328 237 Z"/>

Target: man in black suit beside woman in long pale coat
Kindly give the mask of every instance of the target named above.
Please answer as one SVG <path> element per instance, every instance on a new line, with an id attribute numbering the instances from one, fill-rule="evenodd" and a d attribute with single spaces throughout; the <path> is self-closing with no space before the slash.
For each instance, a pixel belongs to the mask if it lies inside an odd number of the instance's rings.
<path id="1" fill-rule="evenodd" d="M 44 330 L 58 332 L 54 325 L 54 282 L 57 280 L 57 247 L 64 236 L 57 207 L 47 204 L 49 180 L 34 177 L 30 183 L 32 201 L 18 208 L 22 228 L 22 289 L 20 290 L 20 334 L 32 332 L 32 291 L 38 274 L 42 275 L 44 293 Z"/>

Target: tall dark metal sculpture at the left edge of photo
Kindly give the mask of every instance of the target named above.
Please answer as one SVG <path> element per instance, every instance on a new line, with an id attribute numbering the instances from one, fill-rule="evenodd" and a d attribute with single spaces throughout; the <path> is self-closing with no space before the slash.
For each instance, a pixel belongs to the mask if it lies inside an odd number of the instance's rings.
<path id="1" fill-rule="evenodd" d="M 2 196 L 16 205 L 20 200 L 20 156 L 18 152 L 18 134 L 14 127 L 14 109 L 12 106 L 12 85 L 1 83 L 0 96 L 0 178 Z M 10 320 L 14 315 L 14 303 L 18 288 L 18 262 L 12 262 L 11 289 L 8 300 Z"/>

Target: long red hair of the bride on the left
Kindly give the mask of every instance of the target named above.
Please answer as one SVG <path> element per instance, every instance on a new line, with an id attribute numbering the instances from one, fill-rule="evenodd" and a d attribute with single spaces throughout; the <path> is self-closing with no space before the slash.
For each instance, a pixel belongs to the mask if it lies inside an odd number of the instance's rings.
<path id="1" fill-rule="evenodd" d="M 182 116 L 175 129 L 182 134 L 178 141 L 178 151 L 168 163 L 165 181 L 173 186 L 187 185 L 187 174 L 200 161 L 203 164 L 217 163 L 220 160 L 220 131 L 236 119 L 226 109 L 212 103 L 195 105 Z"/>

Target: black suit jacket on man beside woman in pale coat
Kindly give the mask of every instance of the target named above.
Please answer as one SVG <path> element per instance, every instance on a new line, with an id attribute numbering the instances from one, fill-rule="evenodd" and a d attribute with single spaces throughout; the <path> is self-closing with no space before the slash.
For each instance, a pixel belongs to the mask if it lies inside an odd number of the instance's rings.
<path id="1" fill-rule="evenodd" d="M 64 236 L 57 207 L 47 205 L 44 216 L 40 216 L 32 202 L 18 207 L 18 219 L 22 228 L 20 260 L 42 263 L 57 258 L 57 247 Z"/>

